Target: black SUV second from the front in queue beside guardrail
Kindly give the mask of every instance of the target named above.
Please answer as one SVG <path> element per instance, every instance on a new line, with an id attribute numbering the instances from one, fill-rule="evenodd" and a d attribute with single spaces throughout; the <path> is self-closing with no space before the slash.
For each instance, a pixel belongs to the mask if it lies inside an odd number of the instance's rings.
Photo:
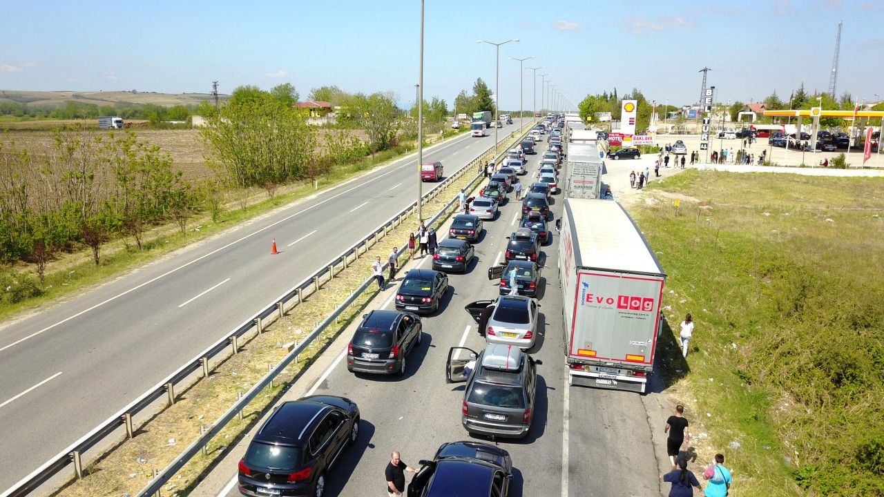
<path id="1" fill-rule="evenodd" d="M 421 343 L 421 329 L 410 312 L 372 310 L 347 345 L 347 371 L 405 374 L 405 356 Z"/>

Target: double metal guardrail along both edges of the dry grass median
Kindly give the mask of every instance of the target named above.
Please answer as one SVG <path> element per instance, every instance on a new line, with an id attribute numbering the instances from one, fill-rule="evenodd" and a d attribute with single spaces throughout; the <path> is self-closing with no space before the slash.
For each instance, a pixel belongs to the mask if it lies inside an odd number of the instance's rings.
<path id="1" fill-rule="evenodd" d="M 529 125 L 530 126 L 530 125 Z M 525 135 L 524 133 L 522 135 Z M 507 147 L 504 147 L 503 152 L 500 153 L 500 156 L 507 153 Z M 498 156 L 498 157 L 500 157 Z M 479 157 L 471 160 L 468 164 L 465 164 L 461 169 L 455 172 L 452 176 L 446 178 L 441 183 L 438 183 L 438 187 L 433 188 L 430 192 L 423 195 L 422 199 L 429 200 L 431 198 L 435 198 L 439 192 L 441 192 L 448 184 L 450 184 L 453 180 L 457 180 L 461 177 L 464 172 L 469 172 L 470 168 L 475 168 L 477 164 L 481 163 L 485 160 L 486 157 L 494 157 L 493 151 L 489 155 L 489 152 L 484 152 Z M 495 164 L 499 164 L 499 160 L 495 160 Z M 476 181 L 481 180 L 483 177 L 482 174 L 477 174 L 476 178 L 470 182 L 470 186 L 475 186 Z M 439 210 L 438 213 L 429 219 L 427 226 L 431 226 L 432 224 L 438 221 L 438 218 L 442 216 L 446 210 L 450 209 L 453 203 L 457 200 L 455 196 L 452 201 L 446 204 L 446 206 Z M 301 283 L 292 287 L 290 290 L 286 291 L 286 293 L 279 295 L 276 299 L 271 302 L 268 306 L 264 307 L 262 310 L 256 312 L 252 317 L 246 319 L 242 324 L 237 326 L 232 330 L 231 333 L 227 333 L 223 338 L 217 340 L 214 344 L 210 345 L 209 348 L 203 350 L 200 354 L 195 356 L 193 359 L 179 367 L 178 370 L 172 372 L 169 376 L 161 380 L 156 386 L 153 386 L 149 391 L 141 394 L 137 399 L 130 402 L 123 409 L 120 409 L 116 414 L 109 417 L 102 424 L 96 426 L 92 431 L 88 432 L 86 435 L 73 442 L 70 446 L 66 447 L 63 451 L 55 455 L 52 459 L 43 463 L 39 468 L 32 471 L 27 477 L 19 480 L 18 483 L 11 486 L 9 489 L 4 491 L 4 493 L 0 494 L 0 497 L 21 497 L 27 495 L 29 493 L 34 492 L 38 487 L 40 487 L 43 483 L 45 483 L 50 478 L 56 476 L 61 470 L 65 469 L 69 464 L 73 464 L 74 466 L 74 475 L 77 478 L 82 478 L 83 476 L 83 465 L 82 465 L 82 454 L 89 450 L 90 448 L 98 445 L 102 440 L 108 438 L 111 433 L 116 432 L 120 426 L 126 427 L 126 436 L 129 439 L 134 437 L 135 427 L 133 425 L 133 416 L 141 413 L 142 410 L 147 409 L 151 404 L 155 401 L 163 398 L 164 396 L 168 399 L 168 405 L 171 405 L 175 402 L 175 389 L 176 386 L 179 386 L 183 380 L 187 379 L 191 374 L 196 371 L 200 371 L 202 369 L 202 377 L 197 378 L 196 381 L 202 378 L 208 378 L 212 369 L 210 367 L 210 362 L 213 359 L 216 359 L 217 356 L 224 354 L 225 356 L 221 357 L 221 361 L 225 360 L 227 357 L 237 354 L 240 347 L 240 338 L 244 337 L 248 333 L 255 331 L 255 336 L 263 333 L 263 327 L 265 325 L 269 325 L 276 321 L 278 318 L 283 317 L 287 311 L 292 310 L 298 304 L 306 300 L 311 294 L 315 294 L 319 291 L 319 288 L 324 285 L 324 283 L 331 281 L 334 278 L 335 272 L 337 268 L 340 268 L 337 271 L 343 271 L 347 268 L 347 264 L 351 264 L 350 257 L 353 256 L 353 261 L 355 262 L 362 253 L 367 252 L 368 249 L 377 243 L 381 238 L 385 236 L 388 231 L 396 226 L 399 226 L 404 219 L 410 217 L 416 210 L 417 201 L 410 203 L 408 207 L 404 210 L 400 210 L 399 213 L 395 214 L 391 218 L 387 219 L 385 223 L 381 226 L 375 228 L 369 235 L 364 237 L 361 241 L 357 241 L 354 245 L 350 246 L 344 250 L 339 256 L 332 258 L 328 264 L 324 264 L 324 267 L 311 276 L 303 279 Z M 406 248 L 400 249 L 400 256 L 405 252 Z M 386 267 L 386 264 L 385 264 Z M 243 395 L 240 398 L 240 401 L 237 401 L 231 409 L 228 409 L 222 417 L 219 417 L 215 424 L 212 424 L 211 428 L 203 432 L 202 436 L 194 442 L 191 446 L 187 447 L 184 452 L 179 455 L 179 457 L 169 464 L 164 470 L 160 471 L 157 476 L 151 480 L 148 486 L 141 490 L 139 495 L 148 495 L 152 493 L 156 493 L 162 485 L 168 481 L 169 478 L 174 474 L 175 471 L 179 470 L 185 463 L 187 463 L 196 452 L 191 452 L 191 450 L 196 447 L 196 451 L 199 451 L 203 446 L 208 443 L 211 438 L 217 434 L 218 431 L 223 429 L 225 425 L 240 412 L 248 402 L 251 401 L 255 395 L 260 392 L 265 386 L 269 385 L 273 378 L 276 378 L 278 373 L 285 369 L 285 367 L 293 361 L 295 357 L 297 357 L 304 348 L 309 347 L 311 342 L 316 339 L 317 336 L 321 335 L 324 332 L 324 329 L 327 325 L 331 324 L 336 320 L 340 314 L 347 310 L 356 298 L 362 292 L 364 292 L 368 287 L 370 282 L 373 279 L 366 280 L 365 283 L 362 284 L 359 288 L 357 288 L 348 298 L 347 301 L 342 303 L 336 310 L 334 310 L 329 317 L 326 317 L 321 323 L 316 325 L 316 328 L 313 332 L 311 332 L 299 345 L 297 345 L 293 350 L 283 358 L 280 363 L 273 369 L 273 371 L 269 372 L 264 378 L 259 380 L 255 386 L 253 386 L 247 394 Z M 194 381 L 195 383 L 195 381 Z M 188 386 L 185 386 L 186 389 Z M 183 390 L 183 389 L 182 389 Z M 169 472 L 171 471 L 171 473 Z M 156 488 L 155 488 L 156 487 Z M 149 493 L 145 493 L 149 490 Z"/>

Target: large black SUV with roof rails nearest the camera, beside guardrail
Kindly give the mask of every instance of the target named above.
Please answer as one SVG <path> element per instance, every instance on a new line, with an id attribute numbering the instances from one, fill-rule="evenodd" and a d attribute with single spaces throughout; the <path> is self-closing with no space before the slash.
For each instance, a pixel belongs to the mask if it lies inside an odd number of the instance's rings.
<path id="1" fill-rule="evenodd" d="M 312 395 L 283 402 L 240 460 L 240 493 L 322 495 L 329 468 L 358 438 L 359 408 L 349 399 Z"/>

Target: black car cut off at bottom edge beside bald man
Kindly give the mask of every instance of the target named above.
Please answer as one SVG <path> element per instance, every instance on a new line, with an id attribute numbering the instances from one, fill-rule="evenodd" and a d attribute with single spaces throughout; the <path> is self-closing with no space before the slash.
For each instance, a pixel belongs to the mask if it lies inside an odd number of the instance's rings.
<path id="1" fill-rule="evenodd" d="M 408 484 L 408 497 L 507 497 L 513 460 L 506 449 L 474 441 L 444 443 Z"/>

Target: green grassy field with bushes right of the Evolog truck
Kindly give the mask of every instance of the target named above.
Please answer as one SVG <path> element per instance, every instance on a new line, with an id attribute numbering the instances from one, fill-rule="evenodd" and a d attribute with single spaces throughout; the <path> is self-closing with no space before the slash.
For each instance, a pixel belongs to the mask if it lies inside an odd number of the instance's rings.
<path id="1" fill-rule="evenodd" d="M 741 495 L 884 495 L 884 180 L 688 171 L 646 195 L 671 333 L 697 322 L 666 372 L 698 463 L 725 454 Z"/>

